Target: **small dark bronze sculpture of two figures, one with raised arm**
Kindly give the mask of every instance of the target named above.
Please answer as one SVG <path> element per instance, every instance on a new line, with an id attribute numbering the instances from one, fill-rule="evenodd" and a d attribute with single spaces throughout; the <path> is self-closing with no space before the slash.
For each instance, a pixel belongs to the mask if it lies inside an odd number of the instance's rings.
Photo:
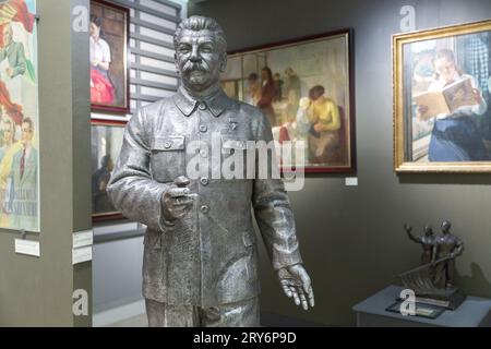
<path id="1" fill-rule="evenodd" d="M 417 302 L 456 309 L 465 300 L 454 286 L 455 258 L 463 253 L 464 243 L 450 232 L 451 227 L 443 221 L 442 234 L 435 236 L 427 226 L 424 236 L 418 238 L 404 225 L 409 239 L 423 248 L 421 266 L 399 275 L 404 286 L 415 291 Z"/>

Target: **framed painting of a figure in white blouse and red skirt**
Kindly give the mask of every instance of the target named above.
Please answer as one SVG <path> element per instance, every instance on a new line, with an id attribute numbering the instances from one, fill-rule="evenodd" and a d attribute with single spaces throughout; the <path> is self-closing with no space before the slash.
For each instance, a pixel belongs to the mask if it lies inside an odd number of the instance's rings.
<path id="1" fill-rule="evenodd" d="M 127 8 L 91 1 L 92 110 L 130 112 L 129 19 Z"/>

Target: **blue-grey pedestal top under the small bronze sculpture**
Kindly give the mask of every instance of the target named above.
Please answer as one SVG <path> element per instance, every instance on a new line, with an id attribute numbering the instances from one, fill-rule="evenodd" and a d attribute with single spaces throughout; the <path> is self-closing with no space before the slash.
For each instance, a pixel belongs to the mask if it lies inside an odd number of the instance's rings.
<path id="1" fill-rule="evenodd" d="M 403 316 L 387 312 L 394 304 L 403 287 L 390 286 L 352 310 L 357 313 L 358 327 L 491 327 L 491 300 L 467 297 L 455 311 L 445 311 L 438 318 Z"/>

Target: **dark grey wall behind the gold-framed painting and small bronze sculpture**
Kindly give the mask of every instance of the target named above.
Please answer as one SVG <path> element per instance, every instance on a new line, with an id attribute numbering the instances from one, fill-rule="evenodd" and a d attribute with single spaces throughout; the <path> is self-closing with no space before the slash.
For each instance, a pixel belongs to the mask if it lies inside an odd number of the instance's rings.
<path id="1" fill-rule="evenodd" d="M 346 176 L 309 174 L 290 200 L 300 246 L 315 291 L 315 309 L 295 309 L 261 248 L 262 310 L 330 325 L 355 325 L 351 308 L 398 282 L 418 265 L 420 249 L 403 224 L 418 232 L 443 219 L 453 224 L 466 250 L 457 262 L 457 284 L 468 294 L 491 297 L 491 197 L 489 174 L 396 174 L 393 171 L 392 39 L 400 33 L 403 5 L 416 9 L 424 29 L 491 17 L 489 0 L 212 0 L 190 4 L 189 15 L 215 17 L 229 50 L 355 29 L 356 143 L 358 186 Z"/>

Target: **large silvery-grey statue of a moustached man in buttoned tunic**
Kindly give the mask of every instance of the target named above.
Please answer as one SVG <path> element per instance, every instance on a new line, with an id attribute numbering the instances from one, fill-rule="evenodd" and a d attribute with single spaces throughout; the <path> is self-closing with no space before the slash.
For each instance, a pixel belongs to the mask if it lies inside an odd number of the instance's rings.
<path id="1" fill-rule="evenodd" d="M 284 292 L 306 310 L 313 306 L 283 181 L 217 179 L 213 172 L 216 139 L 220 161 L 232 152 L 246 153 L 249 141 L 273 140 L 259 109 L 221 91 L 223 29 L 212 19 L 192 16 L 181 22 L 173 40 L 181 86 L 128 123 L 108 185 L 115 206 L 147 226 L 143 293 L 149 325 L 259 326 L 251 205 Z M 208 165 L 197 177 L 189 174 L 196 157 Z"/>

